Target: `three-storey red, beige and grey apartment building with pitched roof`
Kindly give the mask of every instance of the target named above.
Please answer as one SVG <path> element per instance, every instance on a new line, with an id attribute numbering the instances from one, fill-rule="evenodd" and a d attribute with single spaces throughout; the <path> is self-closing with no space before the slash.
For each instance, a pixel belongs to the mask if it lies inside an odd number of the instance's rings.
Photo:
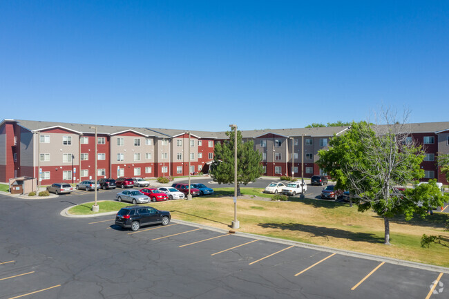
<path id="1" fill-rule="evenodd" d="M 97 128 L 95 140 L 94 129 Z M 318 151 L 347 126 L 242 131 L 262 153 L 265 175 L 327 175 L 318 167 Z M 410 140 L 421 144 L 426 177 L 448 184 L 436 164 L 449 153 L 449 122 L 408 124 Z M 159 177 L 207 173 L 217 142 L 225 132 L 134 128 L 4 119 L 0 122 L 0 182 L 40 175 L 41 184 L 79 182 L 95 177 Z M 190 168 L 189 168 L 190 163 Z M 40 174 L 39 174 L 40 173 Z"/>

